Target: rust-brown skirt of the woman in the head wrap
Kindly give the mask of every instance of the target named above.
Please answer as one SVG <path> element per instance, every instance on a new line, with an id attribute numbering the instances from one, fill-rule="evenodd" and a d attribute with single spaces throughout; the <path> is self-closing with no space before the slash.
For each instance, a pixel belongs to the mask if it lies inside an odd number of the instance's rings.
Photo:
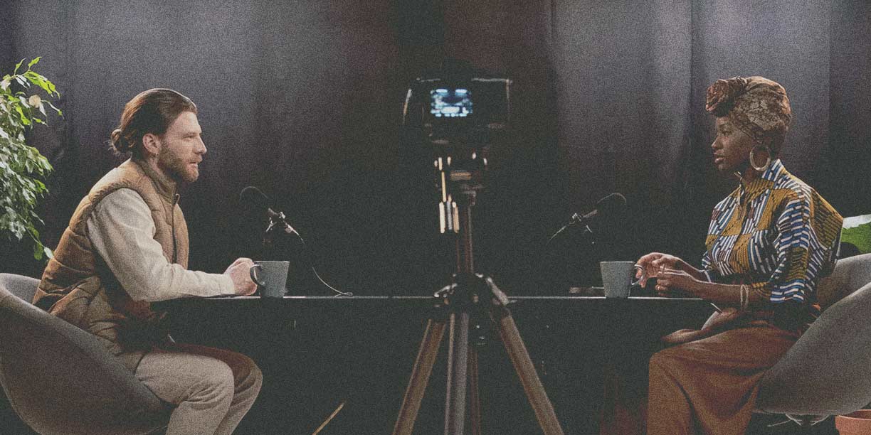
<path id="1" fill-rule="evenodd" d="M 796 339 L 747 326 L 658 351 L 649 365 L 647 435 L 743 434 L 760 378 Z"/>

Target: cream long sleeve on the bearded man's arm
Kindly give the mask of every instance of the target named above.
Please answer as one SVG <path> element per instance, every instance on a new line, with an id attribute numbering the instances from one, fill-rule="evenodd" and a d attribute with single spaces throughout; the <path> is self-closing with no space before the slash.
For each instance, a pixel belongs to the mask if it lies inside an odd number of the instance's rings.
<path id="1" fill-rule="evenodd" d="M 166 260 L 145 200 L 132 189 L 106 195 L 87 221 L 91 244 L 133 300 L 232 296 L 224 274 L 188 271 Z"/>

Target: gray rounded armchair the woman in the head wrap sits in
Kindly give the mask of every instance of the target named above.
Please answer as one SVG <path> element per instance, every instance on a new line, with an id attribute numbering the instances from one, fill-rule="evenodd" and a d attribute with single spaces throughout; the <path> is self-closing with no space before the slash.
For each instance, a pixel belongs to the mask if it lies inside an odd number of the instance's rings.
<path id="1" fill-rule="evenodd" d="M 819 299 L 820 318 L 763 376 L 758 410 L 828 416 L 871 403 L 871 254 L 838 261 Z"/>

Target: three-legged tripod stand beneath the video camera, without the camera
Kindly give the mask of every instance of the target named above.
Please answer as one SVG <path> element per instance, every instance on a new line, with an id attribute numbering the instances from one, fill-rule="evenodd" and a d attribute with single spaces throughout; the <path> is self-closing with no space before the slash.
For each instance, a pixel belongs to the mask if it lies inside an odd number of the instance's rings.
<path id="1" fill-rule="evenodd" d="M 453 178 L 454 174 L 451 174 Z M 444 177 L 442 177 L 444 180 Z M 444 183 L 442 182 L 442 185 Z M 483 278 L 474 272 L 472 258 L 472 206 L 475 204 L 476 188 L 469 184 L 461 184 L 459 200 L 456 206 L 449 204 L 453 213 L 442 215 L 442 229 L 445 221 L 455 223 L 456 232 L 456 276 L 455 283 L 436 293 L 442 310 L 427 321 L 423 332 L 420 349 L 417 352 L 414 368 L 402 407 L 396 418 L 394 435 L 411 435 L 414 429 L 417 412 L 433 365 L 436 363 L 439 346 L 442 343 L 445 329 L 449 331 L 449 350 L 447 367 L 447 388 L 445 393 L 444 434 L 463 435 L 466 422 L 466 395 L 469 387 L 469 405 L 471 431 L 473 435 L 481 434 L 481 406 L 478 398 L 478 358 L 477 352 L 469 348 L 469 319 L 473 314 L 485 313 L 489 321 L 499 331 L 505 351 L 514 365 L 517 377 L 523 385 L 526 397 L 536 414 L 538 425 L 544 435 L 563 435 L 563 429 L 557 421 L 553 405 L 544 391 L 544 385 L 538 378 L 535 366 L 532 365 L 529 352 L 523 345 L 523 338 L 517 331 L 514 318 L 506 306 L 508 298 L 496 288 L 493 280 Z M 444 190 L 442 190 L 444 191 Z M 444 202 L 449 198 L 442 195 Z M 442 207 L 442 211 L 446 207 Z M 448 218 L 445 218 L 447 216 Z"/>

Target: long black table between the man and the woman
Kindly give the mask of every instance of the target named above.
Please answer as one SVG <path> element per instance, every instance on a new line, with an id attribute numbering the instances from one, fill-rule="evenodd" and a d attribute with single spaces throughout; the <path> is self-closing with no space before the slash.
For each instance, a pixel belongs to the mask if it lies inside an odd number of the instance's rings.
<path id="1" fill-rule="evenodd" d="M 241 351 L 264 372 L 260 398 L 237 433 L 321 434 L 393 429 L 427 318 L 429 297 L 180 299 L 163 303 L 179 342 Z M 694 298 L 514 297 L 510 310 L 565 433 L 598 433 L 602 371 L 645 370 L 658 337 L 698 327 L 712 307 Z M 483 432 L 540 433 L 498 343 L 479 349 Z M 442 347 L 415 433 L 441 431 Z"/>

